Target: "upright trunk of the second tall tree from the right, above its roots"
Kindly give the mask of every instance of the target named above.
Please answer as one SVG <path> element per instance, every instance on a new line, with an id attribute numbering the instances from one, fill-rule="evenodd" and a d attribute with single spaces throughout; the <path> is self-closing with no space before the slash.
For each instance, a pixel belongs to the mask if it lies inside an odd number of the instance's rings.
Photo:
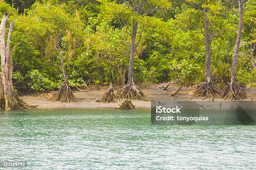
<path id="1" fill-rule="evenodd" d="M 205 83 L 209 83 L 211 81 L 211 52 L 210 52 L 210 39 L 207 34 L 207 18 L 206 18 L 206 10 L 203 8 L 204 12 L 204 33 L 205 33 L 205 51 L 206 51 L 206 58 L 205 58 Z"/>

